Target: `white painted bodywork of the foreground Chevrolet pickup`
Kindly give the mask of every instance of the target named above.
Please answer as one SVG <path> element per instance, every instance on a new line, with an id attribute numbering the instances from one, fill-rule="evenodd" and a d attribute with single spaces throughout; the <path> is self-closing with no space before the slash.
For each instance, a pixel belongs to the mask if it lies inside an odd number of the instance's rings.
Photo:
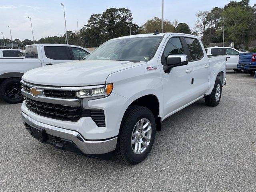
<path id="1" fill-rule="evenodd" d="M 142 34 L 138 36 L 153 36 Z M 82 106 L 102 109 L 105 112 L 106 127 L 97 127 L 90 118 L 81 118 L 78 122 L 60 121 L 46 118 L 29 111 L 24 104 L 22 111 L 39 122 L 77 130 L 86 139 L 106 139 L 119 134 L 120 124 L 128 106 L 145 95 L 154 95 L 159 102 L 159 117 L 164 120 L 168 116 L 192 104 L 204 95 L 211 93 L 219 72 L 223 73 L 222 85 L 226 77 L 226 57 L 208 58 L 204 49 L 201 60 L 188 62 L 188 65 L 172 68 L 170 74 L 163 70 L 160 62 L 166 42 L 172 36 L 197 38 L 186 34 L 165 33 L 154 58 L 148 62 L 122 64 L 122 61 L 87 60 L 69 62 L 62 65 L 43 67 L 27 72 L 22 79 L 34 84 L 52 86 L 89 86 L 113 83 L 110 96 L 83 102 Z M 198 39 L 200 45 L 202 42 Z M 154 70 L 147 70 L 148 67 Z M 208 67 L 205 67 L 208 66 Z M 191 68 L 190 73 L 185 71 Z M 194 78 L 194 84 L 191 79 Z"/>

